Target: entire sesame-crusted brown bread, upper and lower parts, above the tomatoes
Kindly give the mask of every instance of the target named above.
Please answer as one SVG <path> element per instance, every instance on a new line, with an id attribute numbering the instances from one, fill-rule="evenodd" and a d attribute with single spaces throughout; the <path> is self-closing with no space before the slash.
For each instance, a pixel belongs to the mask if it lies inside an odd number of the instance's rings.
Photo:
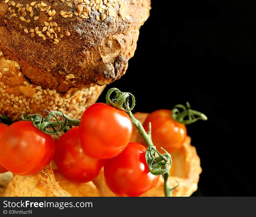
<path id="1" fill-rule="evenodd" d="M 0 0 L 0 115 L 80 118 L 134 55 L 150 0 Z"/>

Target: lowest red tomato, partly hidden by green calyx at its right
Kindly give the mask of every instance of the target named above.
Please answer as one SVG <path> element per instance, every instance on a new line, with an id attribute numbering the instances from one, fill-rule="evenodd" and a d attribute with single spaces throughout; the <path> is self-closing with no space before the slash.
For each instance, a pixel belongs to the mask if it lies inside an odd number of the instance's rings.
<path id="1" fill-rule="evenodd" d="M 159 176 L 150 173 L 145 159 L 146 148 L 131 142 L 118 156 L 104 165 L 106 185 L 119 196 L 140 196 L 157 184 Z"/>

